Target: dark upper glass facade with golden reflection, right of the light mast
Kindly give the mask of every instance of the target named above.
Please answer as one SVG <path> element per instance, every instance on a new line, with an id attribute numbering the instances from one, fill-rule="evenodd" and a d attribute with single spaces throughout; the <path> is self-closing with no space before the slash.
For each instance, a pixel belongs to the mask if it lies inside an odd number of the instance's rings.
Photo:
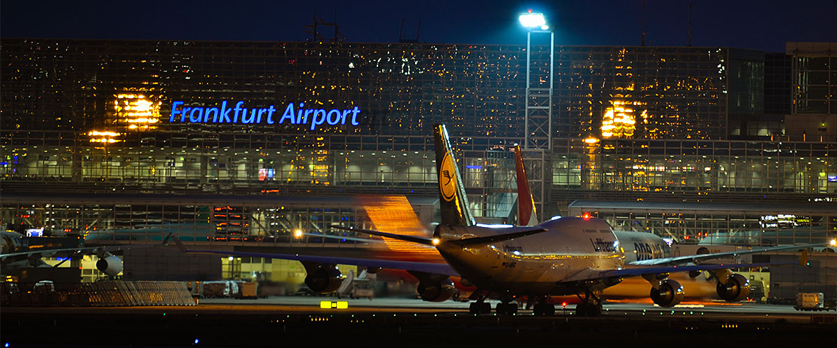
<path id="1" fill-rule="evenodd" d="M 558 138 L 725 139 L 728 48 L 556 48 Z"/>

